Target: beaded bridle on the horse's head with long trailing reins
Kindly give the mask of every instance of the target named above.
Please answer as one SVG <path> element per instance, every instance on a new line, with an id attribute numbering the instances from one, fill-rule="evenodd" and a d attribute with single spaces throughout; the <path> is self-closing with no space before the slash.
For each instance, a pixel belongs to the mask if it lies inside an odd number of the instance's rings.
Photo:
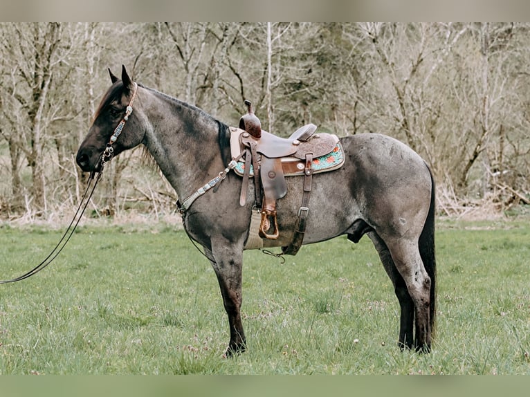
<path id="1" fill-rule="evenodd" d="M 95 187 L 98 185 L 98 182 L 101 179 L 105 163 L 108 163 L 113 157 L 114 149 L 112 145 L 114 142 L 116 142 L 116 140 L 118 139 L 118 136 L 120 136 L 120 133 L 122 133 L 123 127 L 125 127 L 125 122 L 129 120 L 129 116 L 131 116 L 131 113 L 133 111 L 132 105 L 134 102 L 134 98 L 136 98 L 136 91 L 138 91 L 138 84 L 136 84 L 136 82 L 133 84 L 134 84 L 134 89 L 133 89 L 133 93 L 131 96 L 131 100 L 129 101 L 129 104 L 127 105 L 127 108 L 125 109 L 125 116 L 123 116 L 122 120 L 119 122 L 116 129 L 114 129 L 114 132 L 109 140 L 109 143 L 107 143 L 107 147 L 105 147 L 103 153 L 101 154 L 101 160 L 100 160 L 101 166 L 100 166 L 99 171 L 97 172 L 98 175 L 97 176 L 95 175 L 96 174 L 95 171 L 91 172 L 89 176 L 89 183 L 87 183 L 86 185 L 86 190 L 84 191 L 84 194 L 81 198 L 79 207 L 77 207 L 77 211 L 73 215 L 72 221 L 68 225 L 68 228 L 66 228 L 66 232 L 64 232 L 60 241 L 57 243 L 55 248 L 53 248 L 50 254 L 40 264 L 35 266 L 35 268 L 24 273 L 24 275 L 15 277 L 14 279 L 0 280 L 0 284 L 14 283 L 15 281 L 21 281 L 21 280 L 27 279 L 28 277 L 31 277 L 39 273 L 39 271 L 41 271 L 42 269 L 46 268 L 46 266 L 51 264 L 53 259 L 55 259 L 57 255 L 59 255 L 59 253 L 62 251 L 64 246 L 66 246 L 66 243 L 68 243 L 68 241 L 72 237 L 73 232 L 75 232 L 75 228 L 77 228 L 77 225 L 79 224 L 84 214 L 84 210 L 86 210 L 87 205 L 89 205 L 89 202 L 95 191 Z"/>

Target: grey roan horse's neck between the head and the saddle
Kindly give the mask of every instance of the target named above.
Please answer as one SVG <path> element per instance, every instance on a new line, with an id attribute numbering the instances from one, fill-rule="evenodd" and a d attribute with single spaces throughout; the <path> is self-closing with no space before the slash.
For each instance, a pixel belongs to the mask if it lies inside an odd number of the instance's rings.
<path id="1" fill-rule="evenodd" d="M 184 199 L 226 167 L 219 147 L 220 124 L 165 94 L 152 91 L 152 97 L 146 107 L 149 122 L 144 144 Z"/>

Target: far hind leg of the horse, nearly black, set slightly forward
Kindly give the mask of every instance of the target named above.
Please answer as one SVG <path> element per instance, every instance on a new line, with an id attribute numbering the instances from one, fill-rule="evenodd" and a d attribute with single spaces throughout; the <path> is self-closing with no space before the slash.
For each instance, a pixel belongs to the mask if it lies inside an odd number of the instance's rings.
<path id="1" fill-rule="evenodd" d="M 390 277 L 392 285 L 394 286 L 394 293 L 399 301 L 400 318 L 399 318 L 399 347 L 412 349 L 414 341 L 414 302 L 408 293 L 405 280 L 396 268 L 392 255 L 388 250 L 385 242 L 376 232 L 369 232 L 368 237 L 374 243 L 374 246 L 379 254 L 379 258 L 383 263 L 383 268 Z"/>

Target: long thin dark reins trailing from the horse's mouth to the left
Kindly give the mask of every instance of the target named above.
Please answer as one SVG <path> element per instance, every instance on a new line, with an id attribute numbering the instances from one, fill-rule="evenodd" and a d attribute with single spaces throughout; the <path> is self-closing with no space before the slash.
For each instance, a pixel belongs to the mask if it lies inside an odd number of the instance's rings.
<path id="1" fill-rule="evenodd" d="M 29 270 L 28 272 L 24 273 L 24 275 L 21 275 L 19 277 L 15 277 L 14 279 L 10 279 L 10 280 L 0 280 L 0 284 L 14 283 L 16 281 L 21 281 L 21 280 L 27 279 L 28 277 L 31 277 L 31 276 L 39 273 L 39 271 L 41 271 L 42 269 L 46 268 L 46 266 L 51 264 L 53 259 L 55 259 L 57 257 L 57 255 L 60 254 L 60 252 L 62 251 L 64 246 L 66 246 L 66 243 L 68 243 L 68 241 L 72 237 L 73 232 L 75 232 L 75 228 L 77 228 L 77 225 L 79 224 L 79 222 L 80 222 L 80 220 L 81 220 L 81 218 L 82 218 L 82 216 L 84 214 L 84 210 L 86 210 L 86 207 L 89 205 L 89 202 L 92 199 L 92 195 L 93 195 L 93 193 L 95 191 L 95 187 L 98 185 L 98 182 L 101 179 L 102 172 L 98 172 L 97 176 L 95 176 L 94 174 L 95 173 L 93 173 L 93 172 L 90 174 L 89 183 L 86 184 L 86 190 L 84 191 L 84 194 L 83 194 L 83 196 L 81 198 L 81 201 L 79 203 L 79 207 L 77 207 L 77 211 L 73 215 L 73 219 L 70 222 L 70 224 L 68 225 L 68 228 L 66 228 L 66 231 L 62 235 L 60 241 L 57 243 L 55 248 L 53 248 L 53 250 L 50 252 L 50 254 L 46 258 L 44 258 L 44 260 L 41 261 L 40 264 L 35 266 L 35 268 L 33 268 L 33 269 Z M 92 183 L 93 183 L 93 186 L 92 186 L 92 189 L 91 189 Z M 90 191 L 90 194 L 88 195 L 88 198 L 87 198 L 87 194 L 89 193 L 89 191 Z"/>

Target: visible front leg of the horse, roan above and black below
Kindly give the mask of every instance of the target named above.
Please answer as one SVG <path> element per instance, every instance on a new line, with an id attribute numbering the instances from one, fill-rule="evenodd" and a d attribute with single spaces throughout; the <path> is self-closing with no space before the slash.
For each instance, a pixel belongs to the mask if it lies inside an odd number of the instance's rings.
<path id="1" fill-rule="evenodd" d="M 206 255 L 217 275 L 224 308 L 228 315 L 230 342 L 226 356 L 232 357 L 246 350 L 245 333 L 241 322 L 243 250 L 232 246 L 228 241 L 217 244 L 212 241 L 212 251 L 207 250 Z"/>

